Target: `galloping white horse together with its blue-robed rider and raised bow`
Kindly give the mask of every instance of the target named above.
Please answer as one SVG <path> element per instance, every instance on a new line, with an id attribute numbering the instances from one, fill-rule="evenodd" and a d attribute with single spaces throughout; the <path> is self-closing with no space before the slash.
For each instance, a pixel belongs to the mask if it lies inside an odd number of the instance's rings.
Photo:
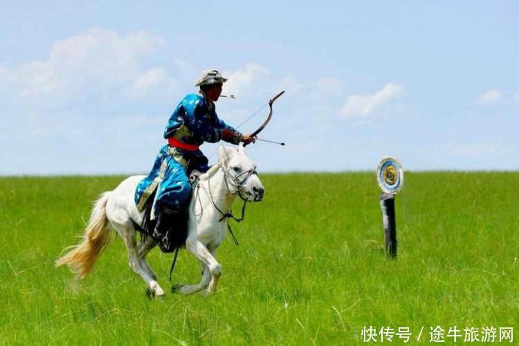
<path id="1" fill-rule="evenodd" d="M 256 165 L 246 156 L 245 145 L 257 139 L 271 120 L 273 102 L 284 93 L 268 101 L 270 111 L 263 124 L 252 134 L 242 135 L 219 120 L 215 112 L 214 102 L 225 81 L 218 71 L 204 71 L 197 82 L 199 93 L 185 96 L 167 122 L 164 137 L 168 143 L 158 153 L 152 172 L 129 176 L 114 190 L 103 192 L 95 201 L 82 241 L 58 258 L 56 266 L 66 264 L 78 277 L 86 277 L 109 244 L 111 230 L 116 230 L 125 242 L 130 268 L 146 282 L 150 296 L 165 294 L 146 262 L 146 255 L 157 244 L 162 251 L 176 251 L 175 259 L 185 245 L 201 263 L 200 282 L 176 284 L 172 292 L 215 292 L 221 276 L 216 251 L 230 231 L 225 220 L 233 217 L 236 197 L 244 201 L 244 207 L 246 202 L 259 202 L 264 197 Z M 219 147 L 218 161 L 209 168 L 199 145 L 221 139 L 244 144 L 238 149 Z M 206 172 L 198 178 L 197 199 L 190 199 L 188 174 L 193 170 Z M 141 237 L 137 244 L 136 233 L 151 237 Z"/>

